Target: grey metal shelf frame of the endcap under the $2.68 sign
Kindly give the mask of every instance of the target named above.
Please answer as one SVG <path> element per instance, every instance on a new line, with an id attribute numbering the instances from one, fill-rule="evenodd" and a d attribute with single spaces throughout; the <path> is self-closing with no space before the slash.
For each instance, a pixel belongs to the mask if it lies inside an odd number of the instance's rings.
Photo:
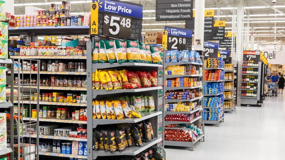
<path id="1" fill-rule="evenodd" d="M 165 60 L 165 54 L 164 54 L 164 60 Z M 204 57 L 201 56 L 202 62 L 204 62 Z M 199 74 L 194 74 L 194 75 L 165 75 L 164 72 L 164 78 L 163 78 L 163 85 L 164 85 L 164 81 L 167 80 L 168 78 L 179 78 L 179 77 L 197 77 L 197 81 L 200 81 L 201 83 L 199 84 L 199 86 L 194 86 L 194 87 L 164 87 L 164 93 L 167 93 L 168 90 L 179 90 L 179 89 L 197 89 L 197 92 L 202 91 L 203 92 L 203 73 L 204 70 L 202 70 L 202 63 L 194 63 L 194 62 L 177 62 L 177 63 L 166 63 L 164 62 L 164 70 L 167 68 L 167 66 L 171 66 L 171 65 L 183 65 L 183 64 L 191 64 L 191 65 L 196 65 L 196 70 L 200 71 Z M 201 100 L 203 98 L 203 95 L 201 97 L 195 97 L 191 100 L 183 100 L 183 99 L 164 99 L 164 105 L 166 103 L 175 103 L 175 102 L 194 102 L 197 101 L 198 105 L 203 106 L 203 100 Z M 192 114 L 199 111 L 200 112 L 200 116 L 195 117 L 192 121 L 189 122 L 185 122 L 185 121 L 164 121 L 164 125 L 168 125 L 168 124 L 191 124 L 191 123 L 199 123 L 202 125 L 202 131 L 203 134 L 199 135 L 196 139 L 196 141 L 194 141 L 194 137 L 193 137 L 193 131 L 191 129 L 187 129 L 186 130 L 190 130 L 192 132 L 192 141 L 191 142 L 176 142 L 176 141 L 164 141 L 164 145 L 170 145 L 170 146 L 185 146 L 185 147 L 190 147 L 191 151 L 194 151 L 194 143 L 198 142 L 198 141 L 205 141 L 205 132 L 204 132 L 204 124 L 202 123 L 202 107 L 201 108 L 197 108 L 194 109 L 192 111 L 189 112 L 176 112 L 176 111 L 164 111 L 164 116 L 166 115 L 173 115 L 173 114 Z M 164 117 L 163 117 L 164 118 Z M 163 128 L 164 129 L 176 129 L 176 128 Z M 184 128 L 179 128 L 179 129 L 184 129 Z"/>

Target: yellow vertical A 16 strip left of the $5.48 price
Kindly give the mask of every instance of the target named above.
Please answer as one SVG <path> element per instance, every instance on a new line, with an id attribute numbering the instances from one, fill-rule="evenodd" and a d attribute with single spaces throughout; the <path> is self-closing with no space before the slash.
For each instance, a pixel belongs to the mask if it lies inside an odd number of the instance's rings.
<path id="1" fill-rule="evenodd" d="M 98 2 L 91 3 L 90 34 L 98 34 Z"/>

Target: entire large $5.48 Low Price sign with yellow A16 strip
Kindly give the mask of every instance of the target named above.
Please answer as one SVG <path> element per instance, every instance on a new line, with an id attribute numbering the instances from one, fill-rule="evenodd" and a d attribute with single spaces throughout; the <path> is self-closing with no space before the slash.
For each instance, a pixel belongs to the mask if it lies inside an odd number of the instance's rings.
<path id="1" fill-rule="evenodd" d="M 140 4 L 92 0 L 90 34 L 140 39 L 142 17 Z"/>

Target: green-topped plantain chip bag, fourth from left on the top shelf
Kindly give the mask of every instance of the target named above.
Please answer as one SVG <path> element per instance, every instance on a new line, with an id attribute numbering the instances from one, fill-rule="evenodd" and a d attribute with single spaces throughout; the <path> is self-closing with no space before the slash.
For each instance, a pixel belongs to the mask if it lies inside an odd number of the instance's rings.
<path id="1" fill-rule="evenodd" d="M 114 42 L 115 42 L 115 45 L 114 45 L 115 56 L 116 56 L 117 62 L 120 64 L 126 63 L 127 62 L 127 54 L 126 54 L 126 47 L 124 46 L 124 43 L 126 43 L 126 42 L 119 41 L 117 39 L 115 39 Z"/>

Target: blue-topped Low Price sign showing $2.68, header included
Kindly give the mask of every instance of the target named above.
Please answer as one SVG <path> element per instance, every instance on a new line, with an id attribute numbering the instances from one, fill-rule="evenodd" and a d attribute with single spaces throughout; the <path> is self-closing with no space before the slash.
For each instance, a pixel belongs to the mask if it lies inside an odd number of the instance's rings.
<path id="1" fill-rule="evenodd" d="M 185 28 L 176 28 L 165 26 L 164 30 L 168 32 L 167 49 L 192 50 L 193 31 Z"/>

